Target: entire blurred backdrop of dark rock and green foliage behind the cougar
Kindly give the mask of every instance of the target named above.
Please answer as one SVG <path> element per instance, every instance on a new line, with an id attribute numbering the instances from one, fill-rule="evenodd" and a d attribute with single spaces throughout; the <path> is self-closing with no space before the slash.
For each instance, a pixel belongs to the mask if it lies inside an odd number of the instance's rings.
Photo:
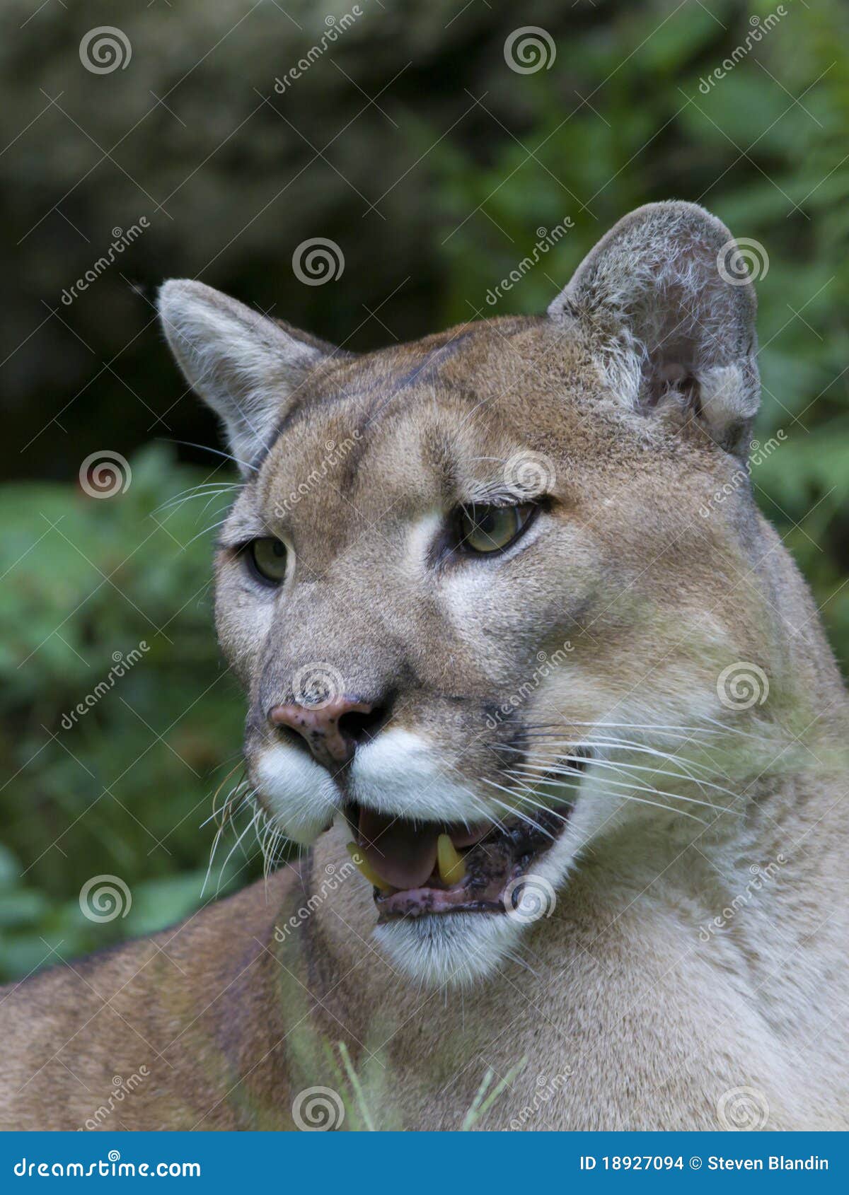
<path id="1" fill-rule="evenodd" d="M 752 483 L 845 667 L 847 6 L 360 0 L 328 43 L 328 18 L 338 27 L 353 7 L 4 5 L 0 975 L 196 907 L 214 833 L 201 823 L 239 777 L 242 704 L 214 643 L 207 531 L 233 476 L 190 447 L 221 446 L 157 329 L 165 277 L 202 278 L 360 350 L 542 311 L 630 208 L 703 203 L 758 243 Z M 92 73 L 80 43 L 103 25 L 130 55 Z M 505 56 L 524 26 L 555 47 L 529 73 Z M 275 92 L 323 36 L 324 53 Z M 488 304 L 567 216 L 557 246 Z M 132 245 L 62 301 L 133 226 Z M 293 253 L 316 237 L 344 269 L 306 286 Z M 91 497 L 91 454 L 126 458 L 126 489 Z M 245 882 L 257 859 L 242 815 L 206 895 Z M 100 923 L 79 894 L 103 875 L 130 899 Z"/>

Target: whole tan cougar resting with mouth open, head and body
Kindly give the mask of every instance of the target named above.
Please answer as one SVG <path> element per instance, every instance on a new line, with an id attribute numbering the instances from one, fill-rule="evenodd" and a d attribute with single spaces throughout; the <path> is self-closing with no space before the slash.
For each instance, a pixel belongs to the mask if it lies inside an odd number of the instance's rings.
<path id="1" fill-rule="evenodd" d="M 240 791 L 303 850 L 6 988 L 2 1126 L 849 1127 L 847 698 L 728 229 L 640 208 L 545 315 L 364 355 L 159 307 L 244 482 Z"/>

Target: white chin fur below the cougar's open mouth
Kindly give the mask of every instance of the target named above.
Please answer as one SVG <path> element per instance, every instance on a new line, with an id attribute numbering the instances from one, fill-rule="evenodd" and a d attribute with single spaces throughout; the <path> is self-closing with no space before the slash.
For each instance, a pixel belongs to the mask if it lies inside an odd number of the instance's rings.
<path id="1" fill-rule="evenodd" d="M 446 913 L 379 925 L 374 940 L 407 979 L 462 988 L 491 975 L 523 929 L 497 913 Z"/>

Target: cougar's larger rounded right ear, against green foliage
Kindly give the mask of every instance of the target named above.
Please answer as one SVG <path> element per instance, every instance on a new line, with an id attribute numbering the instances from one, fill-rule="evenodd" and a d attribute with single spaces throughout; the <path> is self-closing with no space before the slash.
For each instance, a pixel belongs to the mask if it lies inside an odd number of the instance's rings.
<path id="1" fill-rule="evenodd" d="M 759 403 L 755 288 L 726 226 L 695 203 L 649 203 L 601 238 L 549 307 L 578 319 L 611 388 L 649 413 L 686 404 L 745 456 Z"/>

